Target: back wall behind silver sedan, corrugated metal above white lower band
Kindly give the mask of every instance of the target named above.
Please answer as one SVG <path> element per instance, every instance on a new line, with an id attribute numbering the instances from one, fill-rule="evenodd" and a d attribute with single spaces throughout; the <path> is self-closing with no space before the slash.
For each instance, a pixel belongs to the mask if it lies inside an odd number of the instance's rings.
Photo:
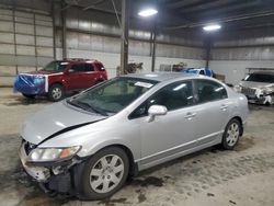
<path id="1" fill-rule="evenodd" d="M 57 9 L 58 11 L 58 9 Z M 105 64 L 110 77 L 116 73 L 121 54 L 121 30 L 114 15 L 69 8 L 67 11 L 67 49 L 69 58 L 95 58 Z M 144 21 L 144 20 L 142 20 Z M 134 23 L 133 23 L 134 24 Z M 144 70 L 151 70 L 150 27 L 130 25 L 129 30 L 129 61 L 144 62 Z M 60 13 L 56 12 L 56 46 L 57 58 L 62 57 Z M 179 34 L 159 33 L 156 47 L 156 70 L 161 64 L 187 62 L 190 67 L 205 65 L 203 41 L 191 39 Z"/>

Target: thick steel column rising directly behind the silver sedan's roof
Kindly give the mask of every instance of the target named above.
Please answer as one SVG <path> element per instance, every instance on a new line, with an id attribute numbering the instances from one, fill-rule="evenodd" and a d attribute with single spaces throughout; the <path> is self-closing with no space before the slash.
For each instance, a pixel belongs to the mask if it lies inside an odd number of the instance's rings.
<path id="1" fill-rule="evenodd" d="M 122 0 L 121 75 L 125 73 L 125 68 L 128 64 L 129 1 Z"/>

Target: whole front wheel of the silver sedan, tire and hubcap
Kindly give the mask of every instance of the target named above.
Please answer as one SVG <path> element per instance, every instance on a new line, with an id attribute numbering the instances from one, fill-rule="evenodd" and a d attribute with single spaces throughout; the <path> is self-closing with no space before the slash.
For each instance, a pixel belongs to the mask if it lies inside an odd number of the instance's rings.
<path id="1" fill-rule="evenodd" d="M 80 197 L 103 199 L 112 196 L 124 185 L 128 170 L 128 158 L 123 149 L 110 147 L 99 151 L 87 161 L 81 178 L 77 176 Z"/>

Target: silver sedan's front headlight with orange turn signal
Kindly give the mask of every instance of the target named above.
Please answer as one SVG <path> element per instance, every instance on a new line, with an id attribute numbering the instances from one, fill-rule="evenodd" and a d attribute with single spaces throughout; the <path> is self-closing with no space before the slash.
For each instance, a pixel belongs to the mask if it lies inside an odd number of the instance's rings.
<path id="1" fill-rule="evenodd" d="M 47 162 L 62 159 L 69 159 L 75 156 L 81 146 L 68 147 L 68 148 L 36 148 L 30 156 L 31 162 Z"/>

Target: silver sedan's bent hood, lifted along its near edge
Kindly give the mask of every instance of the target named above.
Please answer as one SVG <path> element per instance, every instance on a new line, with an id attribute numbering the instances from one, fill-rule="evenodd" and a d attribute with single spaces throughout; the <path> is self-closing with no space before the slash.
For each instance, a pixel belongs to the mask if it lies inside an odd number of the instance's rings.
<path id="1" fill-rule="evenodd" d="M 22 125 L 21 136 L 26 141 L 38 145 L 59 134 L 104 118 L 106 117 L 95 113 L 80 112 L 67 105 L 66 102 L 59 102 L 28 117 Z"/>

